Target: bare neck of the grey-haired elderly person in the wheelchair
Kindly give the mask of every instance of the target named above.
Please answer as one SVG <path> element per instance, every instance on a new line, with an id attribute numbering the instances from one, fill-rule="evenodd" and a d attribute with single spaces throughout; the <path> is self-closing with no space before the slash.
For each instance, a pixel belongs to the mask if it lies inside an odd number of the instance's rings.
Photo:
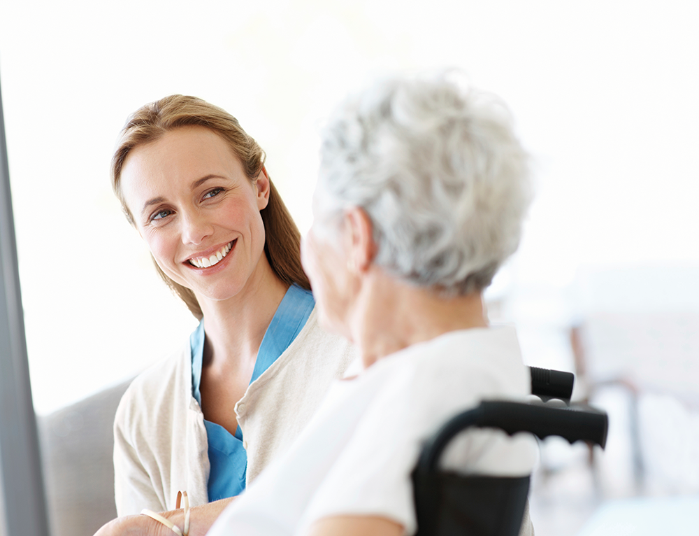
<path id="1" fill-rule="evenodd" d="M 445 298 L 380 270 L 362 281 L 352 316 L 352 339 L 365 367 L 447 332 L 488 327 L 481 292 Z"/>

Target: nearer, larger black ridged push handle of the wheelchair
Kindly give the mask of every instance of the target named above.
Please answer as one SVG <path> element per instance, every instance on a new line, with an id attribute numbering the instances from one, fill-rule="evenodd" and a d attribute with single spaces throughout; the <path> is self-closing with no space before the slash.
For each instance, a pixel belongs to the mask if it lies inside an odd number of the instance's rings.
<path id="1" fill-rule="evenodd" d="M 607 444 L 607 414 L 589 406 L 565 408 L 526 402 L 485 401 L 449 419 L 424 445 L 417 467 L 433 471 L 445 447 L 466 428 L 499 428 L 508 435 L 530 432 L 540 439 L 557 435 L 570 444 L 577 441 Z"/>

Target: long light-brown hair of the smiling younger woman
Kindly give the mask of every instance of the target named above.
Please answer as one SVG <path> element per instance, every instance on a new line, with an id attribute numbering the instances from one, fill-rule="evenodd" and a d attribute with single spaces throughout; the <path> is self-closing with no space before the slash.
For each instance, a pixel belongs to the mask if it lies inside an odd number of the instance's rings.
<path id="1" fill-rule="evenodd" d="M 222 108 L 184 95 L 171 95 L 146 104 L 127 120 L 112 157 L 112 188 L 131 225 L 134 225 L 134 216 L 129 211 L 120 188 L 122 168 L 129 153 L 136 146 L 156 141 L 166 132 L 188 126 L 206 127 L 219 134 L 229 144 L 233 154 L 240 159 L 245 174 L 251 181 L 264 169 L 264 151 L 257 141 L 240 127 L 238 120 Z M 310 290 L 308 277 L 301 267 L 301 233 L 298 232 L 296 223 L 271 180 L 269 202 L 260 211 L 260 216 L 266 236 L 264 252 L 274 273 L 287 285 L 296 283 L 301 288 Z M 194 292 L 175 283 L 164 274 L 157 263 L 154 264 L 168 287 L 185 302 L 189 311 L 201 320 L 203 314 Z"/>

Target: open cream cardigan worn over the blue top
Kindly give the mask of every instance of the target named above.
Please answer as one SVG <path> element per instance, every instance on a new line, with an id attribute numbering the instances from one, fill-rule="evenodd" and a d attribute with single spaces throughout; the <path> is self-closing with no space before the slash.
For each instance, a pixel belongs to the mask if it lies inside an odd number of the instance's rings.
<path id="1" fill-rule="evenodd" d="M 247 388 L 235 406 L 247 450 L 246 484 L 286 451 L 310 420 L 334 379 L 356 357 L 345 339 L 317 323 L 314 309 L 282 355 Z M 177 355 L 134 379 L 114 423 L 115 500 L 120 516 L 208 502 L 208 442 L 204 416 L 192 397 L 189 339 Z"/>

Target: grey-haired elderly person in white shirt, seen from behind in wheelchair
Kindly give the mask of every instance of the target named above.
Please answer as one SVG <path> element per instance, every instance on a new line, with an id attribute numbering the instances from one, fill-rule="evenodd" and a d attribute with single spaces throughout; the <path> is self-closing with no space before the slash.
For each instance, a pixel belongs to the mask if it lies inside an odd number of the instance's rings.
<path id="1" fill-rule="evenodd" d="M 339 108 L 302 260 L 322 325 L 363 369 L 210 536 L 415 533 L 421 442 L 481 399 L 528 394 L 514 330 L 489 326 L 482 299 L 519 242 L 526 162 L 505 108 L 447 77 L 389 80 Z M 483 430 L 444 463 L 521 475 L 534 458 L 533 439 Z"/>

